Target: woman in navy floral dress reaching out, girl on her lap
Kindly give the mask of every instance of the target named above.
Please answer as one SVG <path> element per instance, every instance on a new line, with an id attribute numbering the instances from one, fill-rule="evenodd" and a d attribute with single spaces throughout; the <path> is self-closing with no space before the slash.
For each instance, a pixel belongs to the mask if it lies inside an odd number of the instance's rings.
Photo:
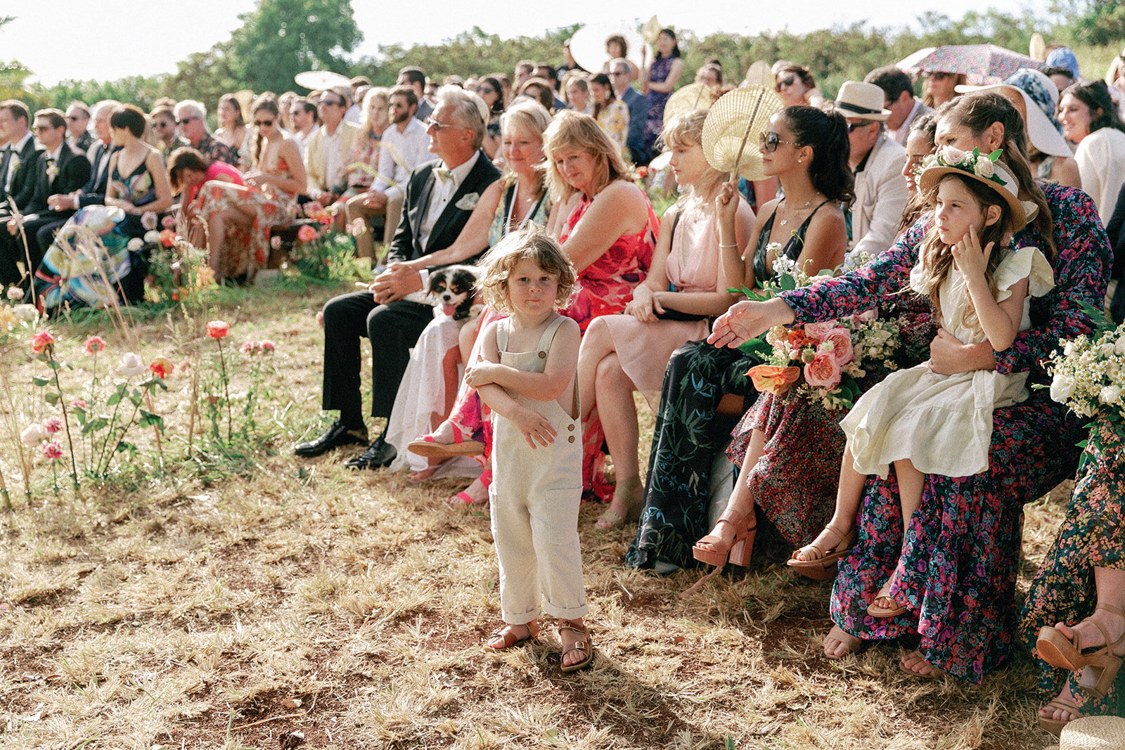
<path id="1" fill-rule="evenodd" d="M 1052 261 L 1056 284 L 1032 300 L 1032 328 L 1019 333 L 1002 354 L 988 343 L 961 344 L 939 331 L 930 345 L 936 372 L 1030 371 L 1029 383 L 1044 383 L 1042 360 L 1061 338 L 1089 331 L 1081 308 L 1097 306 L 1105 295 L 1108 243 L 1094 204 L 1073 188 L 1041 189 L 1032 180 L 1023 127 L 1019 114 L 1002 97 L 965 94 L 940 114 L 937 142 L 986 154 L 1004 150 L 1020 199 L 1036 207 L 1034 222 L 1016 233 L 1012 244 L 1058 247 Z M 917 262 L 928 223 L 924 217 L 891 250 L 843 277 L 782 292 L 767 302 L 739 302 L 716 323 L 709 341 L 737 346 L 774 325 L 838 318 L 897 295 Z M 921 636 L 919 650 L 901 662 L 912 675 L 944 671 L 980 683 L 1002 666 L 1015 635 L 1023 505 L 1073 476 L 1081 422 L 1066 418 L 1065 407 L 1044 390 L 1032 389 L 1027 400 L 996 409 L 989 470 L 972 477 L 929 476 L 906 539 L 894 478 L 870 478 L 856 518 L 856 545 L 838 563 L 829 608 L 835 625 L 825 639 L 826 654 L 839 658 L 863 641 L 910 634 Z M 867 607 L 886 580 L 893 581 L 890 600 L 906 612 L 872 617 Z"/>

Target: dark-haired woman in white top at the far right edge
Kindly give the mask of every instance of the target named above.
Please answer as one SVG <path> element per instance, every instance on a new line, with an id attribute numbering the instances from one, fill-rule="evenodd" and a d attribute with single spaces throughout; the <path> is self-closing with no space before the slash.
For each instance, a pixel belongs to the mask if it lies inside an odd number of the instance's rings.
<path id="1" fill-rule="evenodd" d="M 1082 190 L 1094 198 L 1101 223 L 1109 224 L 1125 184 L 1125 124 L 1117 117 L 1105 81 L 1076 83 L 1063 91 L 1059 120 L 1062 134 L 1078 144 L 1074 161 Z"/>

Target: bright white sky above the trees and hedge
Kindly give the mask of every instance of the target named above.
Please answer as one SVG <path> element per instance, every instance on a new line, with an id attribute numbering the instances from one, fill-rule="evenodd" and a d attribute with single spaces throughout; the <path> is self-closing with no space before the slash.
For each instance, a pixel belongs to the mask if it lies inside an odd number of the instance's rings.
<path id="1" fill-rule="evenodd" d="M 172 72 L 176 63 L 189 54 L 228 38 L 238 26 L 238 13 L 255 7 L 254 0 L 127 4 L 55 0 L 4 4 L 6 9 L 0 12 L 16 16 L 16 20 L 0 29 L 0 60 L 18 60 L 35 73 L 36 80 L 48 85 L 62 79 L 114 80 Z M 502 8 L 505 3 L 430 0 L 425 12 L 395 12 L 398 8 L 413 10 L 422 6 L 395 0 L 352 4 L 364 37 L 359 54 L 372 54 L 380 44 L 436 43 L 474 25 L 501 37 L 534 36 L 576 22 L 646 20 L 656 13 L 662 25 L 691 29 L 700 36 L 718 30 L 752 35 L 786 28 L 803 33 L 861 20 L 878 27 L 908 26 L 925 10 L 960 18 L 970 8 L 983 9 L 971 0 L 849 3 L 835 0 L 771 3 L 564 0 L 511 3 L 511 12 L 489 16 L 484 8 Z M 986 7 L 1019 13 L 1025 4 L 1019 0 L 992 0 Z M 701 12 L 704 8 L 706 11 Z"/>

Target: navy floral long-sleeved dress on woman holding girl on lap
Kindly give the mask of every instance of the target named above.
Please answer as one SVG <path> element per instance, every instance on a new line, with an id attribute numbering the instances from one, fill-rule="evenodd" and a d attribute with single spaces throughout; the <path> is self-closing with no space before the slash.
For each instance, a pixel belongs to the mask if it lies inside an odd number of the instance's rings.
<path id="1" fill-rule="evenodd" d="M 1109 243 L 1089 196 L 1061 186 L 1043 190 L 1054 219 L 1055 288 L 1032 300 L 1032 328 L 997 353 L 998 371 L 1030 370 L 1029 383 L 1047 382 L 1038 362 L 1060 338 L 1089 332 L 1080 306 L 1100 304 L 1110 268 Z M 845 277 L 783 292 L 796 320 L 842 317 L 903 288 L 925 224 L 920 219 L 891 250 Z M 1045 246 L 1034 226 L 1017 233 L 1015 244 Z M 1012 652 L 1024 503 L 1074 473 L 1076 444 L 1082 437 L 1080 421 L 1045 390 L 1032 390 L 1026 401 L 996 409 L 990 470 L 973 477 L 927 477 L 904 544 L 893 472 L 886 480 L 870 478 L 856 517 L 856 545 L 840 561 L 832 588 L 831 618 L 868 641 L 920 634 L 930 665 L 980 683 Z M 888 578 L 891 596 L 907 612 L 873 617 L 867 605 Z"/>

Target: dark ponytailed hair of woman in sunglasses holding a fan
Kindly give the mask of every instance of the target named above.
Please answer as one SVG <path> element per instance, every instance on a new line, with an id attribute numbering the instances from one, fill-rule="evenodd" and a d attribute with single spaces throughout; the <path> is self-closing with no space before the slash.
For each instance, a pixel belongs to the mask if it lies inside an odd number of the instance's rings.
<path id="1" fill-rule="evenodd" d="M 852 146 L 844 116 L 804 105 L 786 107 L 781 116 L 793 132 L 798 147 L 812 147 L 812 163 L 809 164 L 812 187 L 829 200 L 850 204 L 855 199 L 855 175 L 847 163 Z"/>

